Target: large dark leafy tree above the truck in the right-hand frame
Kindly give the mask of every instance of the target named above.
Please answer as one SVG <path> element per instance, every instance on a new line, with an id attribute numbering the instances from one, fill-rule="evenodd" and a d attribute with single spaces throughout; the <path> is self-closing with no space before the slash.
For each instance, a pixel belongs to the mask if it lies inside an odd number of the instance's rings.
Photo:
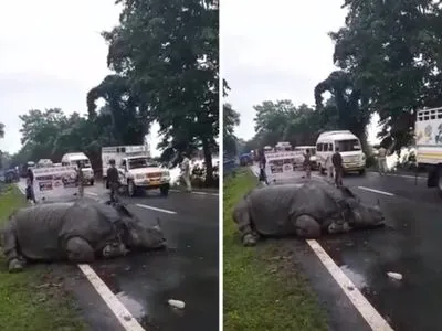
<path id="1" fill-rule="evenodd" d="M 346 25 L 330 33 L 335 63 L 364 90 L 396 149 L 412 139 L 415 110 L 441 106 L 441 9 L 436 1 L 346 0 Z"/>

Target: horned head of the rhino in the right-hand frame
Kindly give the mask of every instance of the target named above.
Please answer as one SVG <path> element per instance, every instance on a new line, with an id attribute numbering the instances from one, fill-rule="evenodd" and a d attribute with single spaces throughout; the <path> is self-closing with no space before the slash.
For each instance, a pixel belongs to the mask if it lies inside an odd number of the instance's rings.
<path id="1" fill-rule="evenodd" d="M 351 228 L 372 228 L 385 225 L 385 216 L 380 209 L 380 203 L 375 206 L 367 205 L 358 199 L 350 207 L 348 225 Z"/>

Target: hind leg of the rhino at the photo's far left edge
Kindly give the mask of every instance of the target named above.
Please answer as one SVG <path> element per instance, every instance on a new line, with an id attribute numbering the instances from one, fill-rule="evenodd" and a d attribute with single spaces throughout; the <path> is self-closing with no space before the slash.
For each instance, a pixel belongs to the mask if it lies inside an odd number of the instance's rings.
<path id="1" fill-rule="evenodd" d="M 2 233 L 3 254 L 8 261 L 9 273 L 21 271 L 24 267 L 24 258 L 19 254 L 14 224 L 13 215 L 11 215 Z"/>

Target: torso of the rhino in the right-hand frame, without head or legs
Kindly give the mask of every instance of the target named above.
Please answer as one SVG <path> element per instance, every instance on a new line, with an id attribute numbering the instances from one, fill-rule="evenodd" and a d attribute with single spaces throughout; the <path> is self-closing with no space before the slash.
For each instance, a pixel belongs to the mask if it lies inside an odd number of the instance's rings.
<path id="1" fill-rule="evenodd" d="M 314 182 L 266 186 L 249 196 L 255 229 L 262 235 L 293 235 L 291 220 L 307 214 L 322 227 L 339 215 L 336 201 Z"/>

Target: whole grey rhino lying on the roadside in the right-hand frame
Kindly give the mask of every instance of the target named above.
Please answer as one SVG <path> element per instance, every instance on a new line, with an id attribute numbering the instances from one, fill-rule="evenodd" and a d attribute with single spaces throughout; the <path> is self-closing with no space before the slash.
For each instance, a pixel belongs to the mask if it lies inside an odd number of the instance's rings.
<path id="1" fill-rule="evenodd" d="M 236 204 L 233 221 L 245 246 L 255 245 L 260 235 L 317 238 L 385 225 L 379 204 L 365 205 L 348 188 L 320 179 L 256 188 Z"/>

